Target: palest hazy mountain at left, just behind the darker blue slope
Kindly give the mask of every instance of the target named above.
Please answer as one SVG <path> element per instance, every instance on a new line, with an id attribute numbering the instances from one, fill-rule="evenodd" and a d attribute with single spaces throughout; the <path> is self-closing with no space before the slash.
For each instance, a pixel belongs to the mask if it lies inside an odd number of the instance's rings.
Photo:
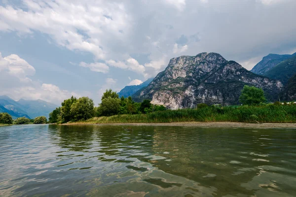
<path id="1" fill-rule="evenodd" d="M 25 100 L 20 99 L 17 101 L 23 106 L 23 109 L 28 113 L 30 117 L 45 116 L 48 118 L 50 112 L 52 112 L 56 107 L 55 104 L 46 102 L 44 100 Z"/>

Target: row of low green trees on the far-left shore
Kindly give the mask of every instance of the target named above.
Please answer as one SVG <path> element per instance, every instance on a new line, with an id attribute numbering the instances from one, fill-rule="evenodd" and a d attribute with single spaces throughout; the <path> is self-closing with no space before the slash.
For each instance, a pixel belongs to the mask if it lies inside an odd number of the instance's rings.
<path id="1" fill-rule="evenodd" d="M 25 125 L 25 124 L 46 124 L 47 119 L 45 116 L 38 116 L 35 119 L 20 117 L 15 120 L 8 113 L 0 113 L 0 124 L 2 125 Z"/>

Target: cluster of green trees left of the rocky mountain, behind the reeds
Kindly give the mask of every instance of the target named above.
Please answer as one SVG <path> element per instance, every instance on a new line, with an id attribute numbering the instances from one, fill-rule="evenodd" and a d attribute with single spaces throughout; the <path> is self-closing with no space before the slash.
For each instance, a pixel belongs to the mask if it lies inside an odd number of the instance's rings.
<path id="1" fill-rule="evenodd" d="M 143 102 L 135 102 L 131 97 L 119 98 L 111 89 L 103 94 L 98 107 L 94 106 L 92 99 L 71 97 L 61 103 L 49 114 L 49 123 L 68 123 L 79 120 L 87 120 L 92 117 L 113 116 L 119 114 L 147 114 L 153 111 L 164 111 L 163 105 L 151 104 L 146 99 Z"/>

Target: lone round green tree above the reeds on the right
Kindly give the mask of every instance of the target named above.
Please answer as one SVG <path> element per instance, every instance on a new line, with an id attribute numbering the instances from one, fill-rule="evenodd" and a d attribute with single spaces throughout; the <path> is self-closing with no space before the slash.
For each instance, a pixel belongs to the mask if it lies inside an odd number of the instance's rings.
<path id="1" fill-rule="evenodd" d="M 266 102 L 266 99 L 261 88 L 244 86 L 239 101 L 244 105 L 258 105 L 261 102 Z"/>

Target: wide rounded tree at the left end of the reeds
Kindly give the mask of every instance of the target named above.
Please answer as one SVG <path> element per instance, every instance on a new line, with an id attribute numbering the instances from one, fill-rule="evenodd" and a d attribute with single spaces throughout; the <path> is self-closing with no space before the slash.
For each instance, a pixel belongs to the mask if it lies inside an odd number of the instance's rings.
<path id="1" fill-rule="evenodd" d="M 77 99 L 71 106 L 71 114 L 74 121 L 87 120 L 94 116 L 94 102 L 88 97 Z"/>

